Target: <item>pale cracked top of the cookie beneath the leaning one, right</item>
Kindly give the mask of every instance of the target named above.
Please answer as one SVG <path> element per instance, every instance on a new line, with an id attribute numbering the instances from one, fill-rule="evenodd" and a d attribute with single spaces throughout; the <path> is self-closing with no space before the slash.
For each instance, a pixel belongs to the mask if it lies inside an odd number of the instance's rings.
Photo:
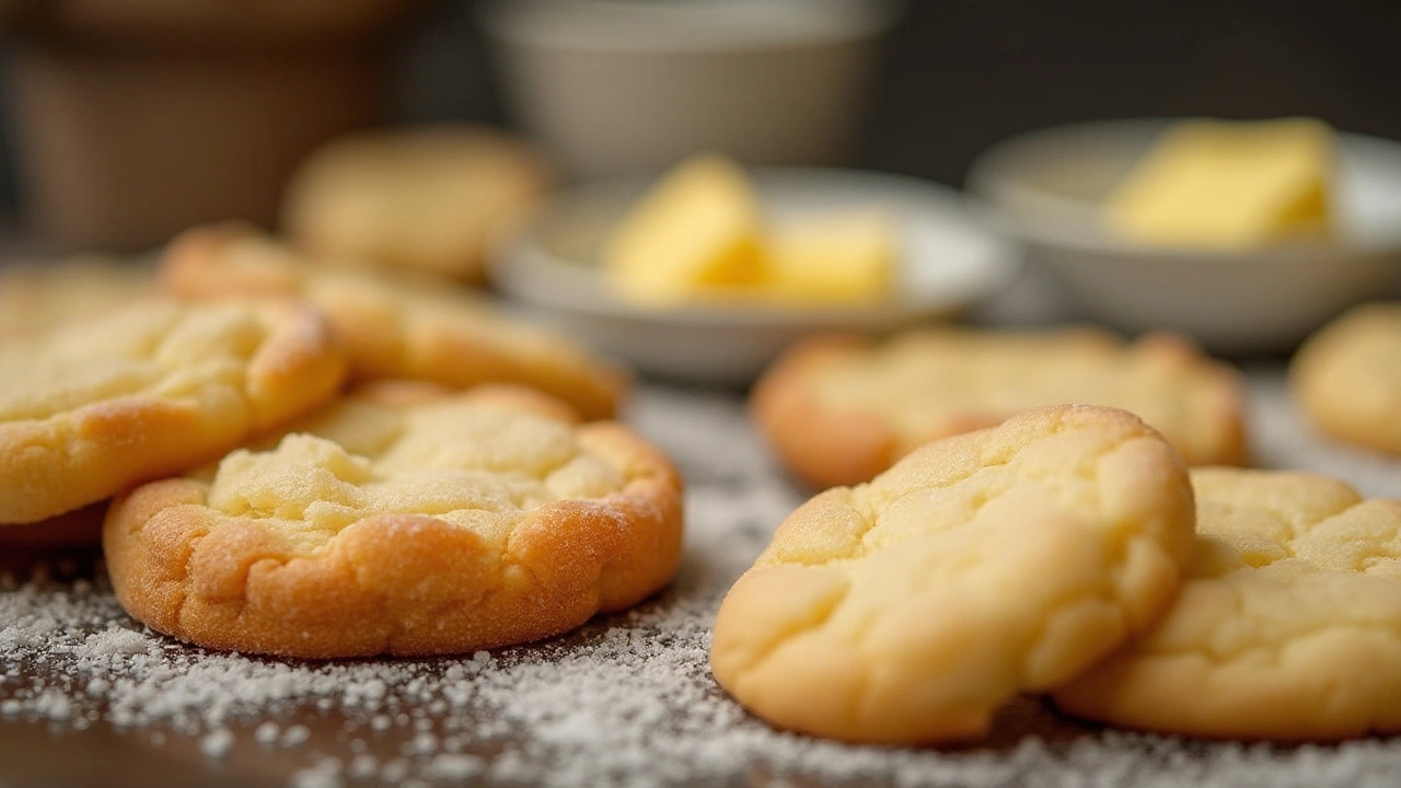
<path id="1" fill-rule="evenodd" d="M 1136 651 L 1278 667 L 1346 631 L 1401 637 L 1401 506 L 1344 482 L 1195 471 L 1198 538 L 1168 617 Z M 1388 635 L 1390 637 L 1390 635 Z"/>

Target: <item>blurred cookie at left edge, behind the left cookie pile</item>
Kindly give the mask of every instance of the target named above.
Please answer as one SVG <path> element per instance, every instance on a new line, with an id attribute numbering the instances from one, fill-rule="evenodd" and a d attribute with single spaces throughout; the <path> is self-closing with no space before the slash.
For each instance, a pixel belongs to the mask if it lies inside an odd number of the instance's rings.
<path id="1" fill-rule="evenodd" d="M 0 342 L 156 294 L 150 265 L 98 257 L 0 266 Z"/>

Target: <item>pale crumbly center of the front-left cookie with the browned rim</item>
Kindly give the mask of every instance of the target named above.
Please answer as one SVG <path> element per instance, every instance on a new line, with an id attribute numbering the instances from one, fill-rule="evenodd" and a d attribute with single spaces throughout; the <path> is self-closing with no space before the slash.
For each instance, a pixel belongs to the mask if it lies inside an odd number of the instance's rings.
<path id="1" fill-rule="evenodd" d="M 209 506 L 276 520 L 314 543 L 391 513 L 427 515 L 504 538 L 527 512 L 560 499 L 604 498 L 625 484 L 616 468 L 581 450 L 573 428 L 549 419 L 451 407 L 422 408 L 377 428 L 361 418 L 343 419 L 356 428 L 329 425 L 328 432 L 367 442 L 373 454 L 315 435 L 287 435 L 269 451 L 226 457 Z M 377 418 L 387 421 L 384 412 Z"/>

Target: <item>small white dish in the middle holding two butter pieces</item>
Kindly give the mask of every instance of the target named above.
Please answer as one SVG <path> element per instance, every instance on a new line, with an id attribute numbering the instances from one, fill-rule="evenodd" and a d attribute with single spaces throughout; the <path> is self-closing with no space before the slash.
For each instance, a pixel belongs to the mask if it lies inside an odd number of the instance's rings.
<path id="1" fill-rule="evenodd" d="M 955 191 L 848 170 L 752 171 L 765 209 L 782 219 L 880 208 L 895 219 L 901 259 L 891 300 L 792 308 L 755 303 L 649 308 L 619 300 L 597 250 L 649 181 L 621 179 L 558 196 L 492 262 L 514 300 L 639 370 L 708 384 L 744 384 L 794 341 L 822 331 L 878 334 L 947 318 L 1003 287 L 1016 250 Z"/>

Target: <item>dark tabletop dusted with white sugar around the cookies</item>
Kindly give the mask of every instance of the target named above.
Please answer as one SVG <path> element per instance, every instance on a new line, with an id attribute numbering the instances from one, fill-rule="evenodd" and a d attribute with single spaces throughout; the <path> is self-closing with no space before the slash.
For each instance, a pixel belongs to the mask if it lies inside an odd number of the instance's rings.
<path id="1" fill-rule="evenodd" d="M 1401 498 L 1401 461 L 1310 435 L 1278 367 L 1250 376 L 1257 464 Z M 806 494 L 736 395 L 644 387 L 629 421 L 686 478 L 681 573 L 630 613 L 530 646 L 319 665 L 219 655 L 143 631 L 92 557 L 38 572 L 0 557 L 0 787 L 1401 784 L 1401 738 L 1182 740 L 1082 725 L 1034 698 L 957 749 L 773 732 L 715 686 L 709 625 Z"/>

